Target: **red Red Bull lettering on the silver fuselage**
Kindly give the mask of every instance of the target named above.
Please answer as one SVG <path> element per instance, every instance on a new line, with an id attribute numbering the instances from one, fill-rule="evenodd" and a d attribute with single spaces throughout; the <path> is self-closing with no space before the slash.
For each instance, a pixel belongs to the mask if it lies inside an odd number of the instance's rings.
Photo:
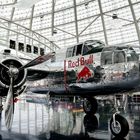
<path id="1" fill-rule="evenodd" d="M 76 61 L 69 60 L 68 68 L 75 68 L 84 65 L 90 65 L 93 63 L 93 55 L 90 55 L 87 59 L 85 57 L 78 58 Z"/>

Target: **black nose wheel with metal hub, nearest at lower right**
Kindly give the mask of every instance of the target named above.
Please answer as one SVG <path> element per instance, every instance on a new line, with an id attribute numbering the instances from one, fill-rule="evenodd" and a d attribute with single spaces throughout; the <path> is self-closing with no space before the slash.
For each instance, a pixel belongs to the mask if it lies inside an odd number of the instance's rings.
<path id="1" fill-rule="evenodd" d="M 117 114 L 115 115 L 115 123 L 116 126 L 114 126 L 113 117 L 112 117 L 110 121 L 110 130 L 112 134 L 116 137 L 122 137 L 122 138 L 125 137 L 129 131 L 129 125 L 127 120 L 121 115 Z"/>

